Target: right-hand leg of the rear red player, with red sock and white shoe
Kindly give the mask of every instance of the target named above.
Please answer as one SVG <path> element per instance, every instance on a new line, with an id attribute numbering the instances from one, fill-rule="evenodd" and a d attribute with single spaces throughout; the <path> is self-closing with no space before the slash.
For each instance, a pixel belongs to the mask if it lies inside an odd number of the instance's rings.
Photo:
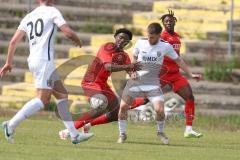
<path id="1" fill-rule="evenodd" d="M 201 133 L 197 133 L 192 129 L 192 124 L 195 116 L 195 101 L 190 84 L 185 77 L 179 76 L 179 78 L 173 82 L 172 85 L 174 92 L 176 92 L 185 100 L 186 129 L 184 137 L 201 137 Z"/>

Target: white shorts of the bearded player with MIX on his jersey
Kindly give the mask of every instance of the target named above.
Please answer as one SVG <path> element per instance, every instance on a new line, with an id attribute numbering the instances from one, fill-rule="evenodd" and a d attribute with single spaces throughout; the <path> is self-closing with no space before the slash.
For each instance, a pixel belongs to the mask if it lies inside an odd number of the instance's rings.
<path id="1" fill-rule="evenodd" d="M 150 102 L 164 101 L 164 95 L 159 85 L 145 85 L 128 81 L 123 91 L 123 99 L 125 96 L 132 98 L 144 97 L 148 98 Z"/>

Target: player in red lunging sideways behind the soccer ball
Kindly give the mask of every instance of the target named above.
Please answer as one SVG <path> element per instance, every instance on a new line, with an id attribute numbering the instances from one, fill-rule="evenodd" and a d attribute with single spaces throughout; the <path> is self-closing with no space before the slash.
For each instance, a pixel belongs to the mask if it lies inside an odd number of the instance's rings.
<path id="1" fill-rule="evenodd" d="M 119 99 L 107 84 L 108 77 L 112 72 L 138 70 L 138 63 L 131 64 L 128 54 L 123 48 L 131 41 L 132 33 L 127 29 L 116 31 L 115 43 L 106 43 L 99 49 L 96 58 L 89 65 L 87 72 L 82 80 L 84 94 L 89 98 L 90 104 L 95 95 L 104 95 L 107 99 L 106 108 L 103 107 L 105 101 L 98 99 L 99 107 L 94 106 L 89 112 L 84 113 L 75 121 L 75 128 L 79 129 L 88 123 L 88 126 L 117 121 L 119 110 Z M 95 97 L 96 98 L 96 97 Z M 96 100 L 96 99 L 95 99 Z M 142 103 L 140 98 L 135 105 Z M 69 135 L 68 130 L 59 132 L 61 139 L 66 139 Z"/>

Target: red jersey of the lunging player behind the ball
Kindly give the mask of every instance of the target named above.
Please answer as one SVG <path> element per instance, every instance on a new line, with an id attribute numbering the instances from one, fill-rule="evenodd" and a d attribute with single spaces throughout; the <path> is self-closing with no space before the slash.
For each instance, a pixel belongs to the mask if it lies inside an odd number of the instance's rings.
<path id="1" fill-rule="evenodd" d="M 126 52 L 116 51 L 113 43 L 104 44 L 99 49 L 92 64 L 89 65 L 82 80 L 82 85 L 90 85 L 96 89 L 108 87 L 107 80 L 111 72 L 107 71 L 104 67 L 106 63 L 124 65 L 130 64 L 131 60 Z"/>

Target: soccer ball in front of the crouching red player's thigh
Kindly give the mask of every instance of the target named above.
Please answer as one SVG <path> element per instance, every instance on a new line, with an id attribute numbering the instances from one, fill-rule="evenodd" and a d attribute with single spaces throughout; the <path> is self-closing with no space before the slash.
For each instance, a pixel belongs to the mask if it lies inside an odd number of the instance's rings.
<path id="1" fill-rule="evenodd" d="M 104 110 L 108 106 L 107 97 L 103 94 L 95 94 L 90 98 L 90 107 L 93 109 Z"/>

